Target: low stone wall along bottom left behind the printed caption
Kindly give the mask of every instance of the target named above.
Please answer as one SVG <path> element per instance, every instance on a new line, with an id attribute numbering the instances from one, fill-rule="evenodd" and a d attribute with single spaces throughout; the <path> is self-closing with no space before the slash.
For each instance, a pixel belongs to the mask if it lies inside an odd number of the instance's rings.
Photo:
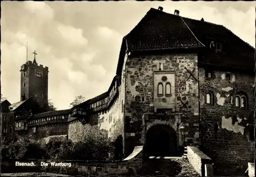
<path id="1" fill-rule="evenodd" d="M 127 161 L 71 161 L 71 160 L 29 160 L 35 166 L 16 166 L 15 162 L 25 162 L 21 160 L 9 160 L 2 162 L 1 172 L 52 172 L 68 175 L 124 175 L 132 168 L 135 171 L 142 166 L 141 154 Z M 44 166 L 41 163 L 44 162 Z M 71 163 L 71 166 L 52 166 L 51 162 L 55 163 Z M 48 164 L 46 166 L 45 164 Z M 135 174 L 131 174 L 135 175 Z"/>

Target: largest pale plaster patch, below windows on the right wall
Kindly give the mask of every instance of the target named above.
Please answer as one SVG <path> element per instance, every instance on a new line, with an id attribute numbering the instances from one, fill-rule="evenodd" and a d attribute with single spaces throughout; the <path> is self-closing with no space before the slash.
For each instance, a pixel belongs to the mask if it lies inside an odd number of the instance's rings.
<path id="1" fill-rule="evenodd" d="M 227 129 L 228 131 L 233 131 L 234 133 L 240 132 L 243 135 L 245 128 L 239 125 L 242 119 L 240 119 L 239 117 L 237 117 L 237 119 L 238 121 L 232 124 L 232 117 L 225 118 L 225 116 L 222 116 L 221 128 Z"/>

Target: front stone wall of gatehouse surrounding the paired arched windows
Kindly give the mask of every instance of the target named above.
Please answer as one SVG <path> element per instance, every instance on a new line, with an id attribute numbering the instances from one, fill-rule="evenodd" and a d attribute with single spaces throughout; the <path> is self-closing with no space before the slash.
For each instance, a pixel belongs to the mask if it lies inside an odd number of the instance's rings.
<path id="1" fill-rule="evenodd" d="M 161 67 L 162 71 L 159 71 Z M 162 72 L 162 73 L 161 73 Z M 168 73 L 167 73 L 168 72 Z M 190 73 L 191 74 L 190 74 Z M 161 107 L 166 102 L 164 95 L 155 99 L 155 74 L 160 74 L 159 82 L 169 82 L 172 87 L 172 104 Z M 168 75 L 171 74 L 171 75 Z M 172 75 L 174 74 L 174 75 Z M 162 81 L 162 77 L 167 79 Z M 193 75 L 193 76 L 192 76 Z M 169 77 L 169 78 L 168 78 Z M 159 79 L 159 77 L 156 77 Z M 175 78 L 175 79 L 174 79 Z M 172 109 L 171 112 L 184 113 L 183 122 L 190 127 L 198 123 L 198 67 L 196 54 L 164 56 L 129 56 L 126 63 L 126 103 L 125 103 L 125 155 L 136 145 L 143 145 L 143 114 L 156 109 Z M 165 89 L 164 89 L 165 90 Z M 185 106 L 183 106 L 183 104 Z M 157 105 L 155 107 L 155 105 Z M 156 108 L 156 109 L 155 109 Z M 195 125 L 198 129 L 198 124 Z M 190 134 L 186 142 L 198 144 L 198 133 Z"/>

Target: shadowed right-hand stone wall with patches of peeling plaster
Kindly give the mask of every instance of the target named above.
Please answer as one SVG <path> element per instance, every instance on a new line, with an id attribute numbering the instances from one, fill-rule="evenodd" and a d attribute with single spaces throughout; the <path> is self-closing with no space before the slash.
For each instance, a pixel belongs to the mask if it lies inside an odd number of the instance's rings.
<path id="1" fill-rule="evenodd" d="M 254 141 L 249 125 L 254 124 L 254 77 L 242 73 L 214 71 L 213 79 L 200 77 L 201 150 L 216 164 L 217 175 L 242 175 L 254 159 Z M 213 93 L 213 104 L 206 104 L 206 93 Z M 236 95 L 245 94 L 247 109 L 236 107 Z"/>

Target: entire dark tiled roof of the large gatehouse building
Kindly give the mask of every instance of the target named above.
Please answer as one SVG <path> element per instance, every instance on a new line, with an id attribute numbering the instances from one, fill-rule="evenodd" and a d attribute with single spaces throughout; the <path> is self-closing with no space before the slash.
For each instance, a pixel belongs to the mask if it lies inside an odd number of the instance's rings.
<path id="1" fill-rule="evenodd" d="M 222 52 L 209 48 L 214 40 L 222 45 Z M 227 28 L 201 20 L 168 14 L 151 8 L 137 26 L 123 40 L 116 74 L 121 74 L 125 50 L 148 51 L 201 47 L 198 62 L 254 71 L 255 49 Z M 127 48 L 126 48 L 127 47 Z"/>

